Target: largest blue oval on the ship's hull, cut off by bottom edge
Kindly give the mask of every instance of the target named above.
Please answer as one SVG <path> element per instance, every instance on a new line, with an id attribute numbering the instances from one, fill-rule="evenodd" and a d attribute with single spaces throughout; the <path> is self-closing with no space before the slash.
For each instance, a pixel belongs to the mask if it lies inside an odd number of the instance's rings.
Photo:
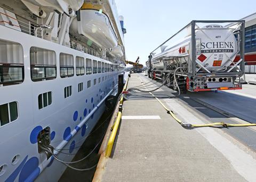
<path id="1" fill-rule="evenodd" d="M 39 161 L 36 157 L 30 158 L 20 171 L 19 181 L 34 181 L 40 173 L 38 164 Z"/>

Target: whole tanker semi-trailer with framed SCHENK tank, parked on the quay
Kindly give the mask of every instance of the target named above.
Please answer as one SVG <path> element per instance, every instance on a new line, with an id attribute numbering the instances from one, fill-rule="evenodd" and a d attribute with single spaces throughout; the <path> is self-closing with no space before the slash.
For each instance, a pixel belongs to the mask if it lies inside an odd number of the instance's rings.
<path id="1" fill-rule="evenodd" d="M 148 76 L 182 93 L 242 89 L 244 26 L 243 20 L 191 21 L 150 53 Z"/>

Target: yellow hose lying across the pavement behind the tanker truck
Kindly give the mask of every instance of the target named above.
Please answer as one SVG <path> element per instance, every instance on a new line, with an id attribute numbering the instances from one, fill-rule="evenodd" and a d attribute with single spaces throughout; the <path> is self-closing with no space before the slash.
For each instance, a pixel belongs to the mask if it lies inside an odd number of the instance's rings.
<path id="1" fill-rule="evenodd" d="M 169 110 L 154 94 L 153 95 L 156 100 L 164 107 L 164 109 L 167 111 L 167 113 L 171 114 L 172 118 L 175 119 L 178 123 L 180 123 L 181 126 L 187 127 L 187 128 L 199 128 L 199 127 L 212 127 L 212 126 L 223 126 L 223 127 L 250 127 L 250 126 L 256 126 L 255 123 L 248 123 L 248 124 L 230 124 L 226 122 L 214 122 L 204 125 L 191 125 L 190 123 L 182 122 L 180 119 L 176 117 L 176 115 L 173 113 L 173 111 Z"/>

